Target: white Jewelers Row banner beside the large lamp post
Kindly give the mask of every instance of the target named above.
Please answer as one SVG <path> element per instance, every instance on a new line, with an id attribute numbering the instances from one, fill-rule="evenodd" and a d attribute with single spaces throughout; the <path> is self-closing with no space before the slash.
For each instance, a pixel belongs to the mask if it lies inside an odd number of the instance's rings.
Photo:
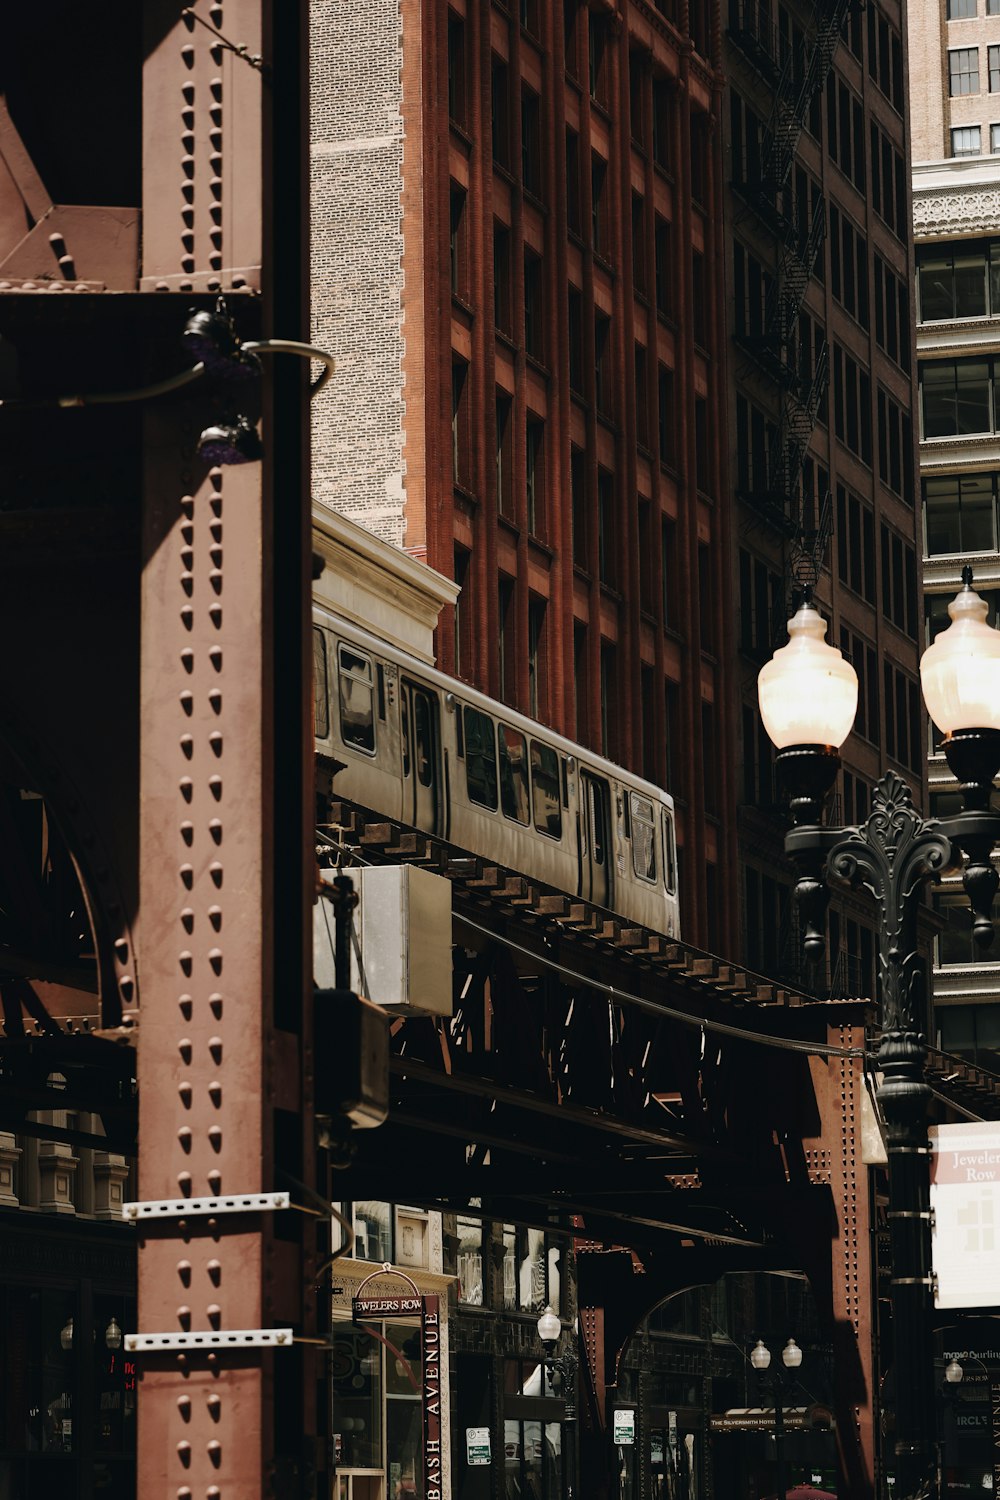
<path id="1" fill-rule="evenodd" d="M 1000 1306 L 1000 1124 L 934 1125 L 928 1134 L 934 1305 Z"/>

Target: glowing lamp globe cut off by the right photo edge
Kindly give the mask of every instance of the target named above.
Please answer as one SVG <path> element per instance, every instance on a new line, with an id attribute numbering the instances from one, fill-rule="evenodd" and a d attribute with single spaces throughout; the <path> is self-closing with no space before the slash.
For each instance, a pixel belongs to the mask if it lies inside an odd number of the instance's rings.
<path id="1" fill-rule="evenodd" d="M 963 729 L 1000 729 L 1000 632 L 987 624 L 972 568 L 963 582 L 948 606 L 951 626 L 921 657 L 924 702 L 946 740 Z"/>

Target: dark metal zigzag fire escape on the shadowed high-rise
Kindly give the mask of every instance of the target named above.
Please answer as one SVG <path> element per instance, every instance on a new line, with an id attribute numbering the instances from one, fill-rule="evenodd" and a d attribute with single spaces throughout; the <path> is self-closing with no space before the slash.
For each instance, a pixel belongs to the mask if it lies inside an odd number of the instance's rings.
<path id="1" fill-rule="evenodd" d="M 777 33 L 771 8 L 732 0 L 730 40 L 771 90 L 771 117 L 759 140 L 747 142 L 733 186 L 778 248 L 759 326 L 738 336 L 739 346 L 778 387 L 780 412 L 766 442 L 766 462 L 754 460 L 742 498 L 786 543 L 787 603 L 814 584 L 832 531 L 832 500 L 807 494 L 804 464 L 829 378 L 826 340 L 807 346 L 799 315 L 826 238 L 826 206 L 793 200 L 792 166 L 813 98 L 826 82 L 852 0 L 817 0 L 804 39 Z M 781 621 L 781 626 L 784 622 Z"/>

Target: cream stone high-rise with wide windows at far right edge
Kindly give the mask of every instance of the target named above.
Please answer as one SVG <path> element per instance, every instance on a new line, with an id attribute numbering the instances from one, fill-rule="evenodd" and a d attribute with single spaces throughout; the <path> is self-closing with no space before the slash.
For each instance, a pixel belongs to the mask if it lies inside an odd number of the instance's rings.
<path id="1" fill-rule="evenodd" d="M 1000 12 L 993 0 L 910 9 L 913 228 L 928 640 L 972 564 L 997 621 L 1000 588 Z M 916 80 L 919 78 L 919 86 Z M 994 98 L 997 96 L 997 98 Z M 931 808 L 958 806 L 930 744 Z M 939 896 L 934 1028 L 948 1052 L 1000 1068 L 996 956 L 975 950 L 957 880 Z"/>

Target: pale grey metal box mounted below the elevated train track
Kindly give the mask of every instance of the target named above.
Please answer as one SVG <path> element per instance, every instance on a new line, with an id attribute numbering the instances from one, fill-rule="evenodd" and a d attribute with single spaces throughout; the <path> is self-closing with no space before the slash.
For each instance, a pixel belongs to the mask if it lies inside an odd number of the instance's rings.
<path id="1" fill-rule="evenodd" d="M 451 1016 L 451 882 L 412 864 L 322 870 L 358 892 L 351 932 L 351 988 L 384 1010 Z M 334 909 L 313 915 L 313 978 L 334 988 Z"/>

